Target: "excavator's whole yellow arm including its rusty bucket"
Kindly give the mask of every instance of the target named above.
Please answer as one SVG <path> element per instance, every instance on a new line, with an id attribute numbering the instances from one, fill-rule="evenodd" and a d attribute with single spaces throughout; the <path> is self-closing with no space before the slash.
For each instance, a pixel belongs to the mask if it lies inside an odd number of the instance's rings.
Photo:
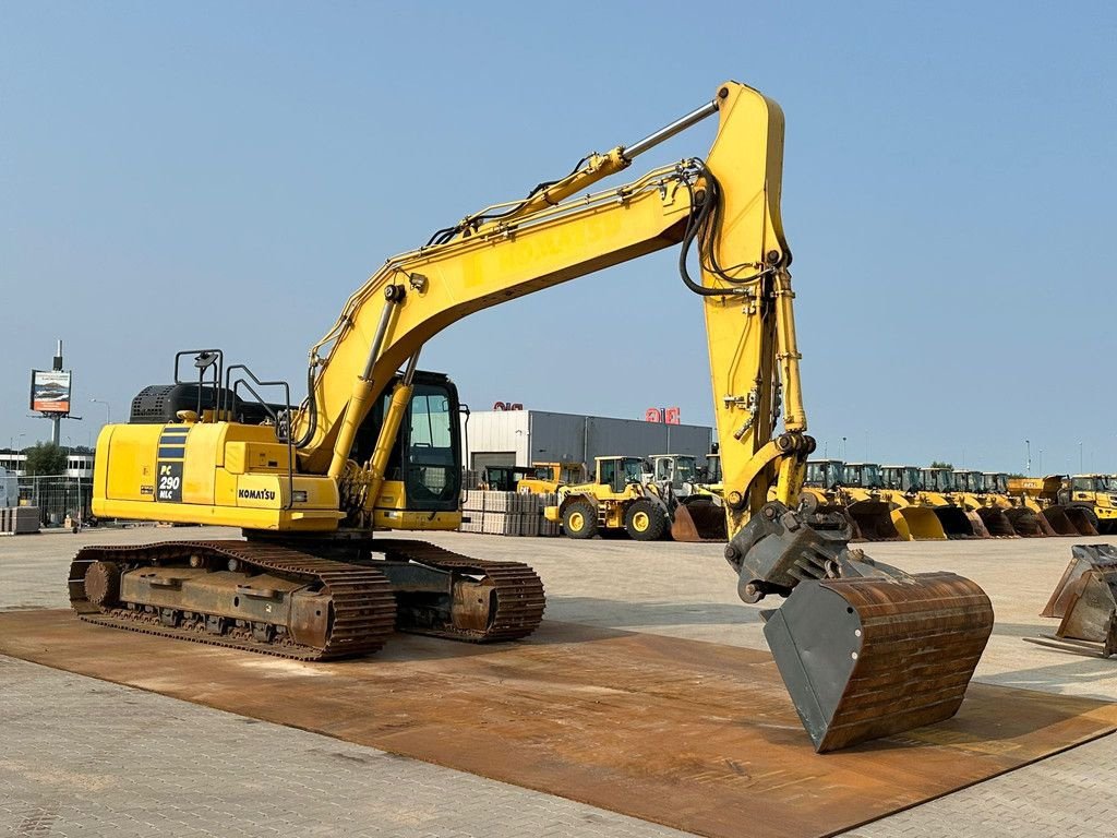
<path id="1" fill-rule="evenodd" d="M 715 113 L 717 135 L 705 160 L 573 198 Z M 527 199 L 467 217 L 428 247 L 390 259 L 315 346 L 300 458 L 304 468 L 355 487 L 349 503 L 371 512 L 398 422 L 384 422 L 367 463 L 349 454 L 372 401 L 402 364 L 413 369 L 426 341 L 481 308 L 681 246 L 682 283 L 706 316 L 726 559 L 746 602 L 790 597 L 767 612 L 765 635 L 815 747 L 825 751 L 953 715 L 991 632 L 992 609 L 972 581 L 876 563 L 849 550 L 843 516 L 799 508 L 814 440 L 805 432 L 791 250 L 780 215 L 783 137 L 776 103 L 727 83 L 708 105 L 648 140 L 590 155 Z M 402 416 L 409 393 L 404 374 L 390 416 Z"/>

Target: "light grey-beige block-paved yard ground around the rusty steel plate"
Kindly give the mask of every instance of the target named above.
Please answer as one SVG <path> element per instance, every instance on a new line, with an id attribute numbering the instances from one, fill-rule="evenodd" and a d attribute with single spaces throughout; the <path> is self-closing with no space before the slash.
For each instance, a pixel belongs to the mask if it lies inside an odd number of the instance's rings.
<path id="1" fill-rule="evenodd" d="M 0 539 L 0 609 L 66 606 L 83 543 L 220 537 L 218 530 Z M 553 619 L 763 648 L 717 545 L 446 534 L 465 553 L 529 561 Z M 1104 541 L 1104 540 L 1098 540 Z M 978 678 L 1117 701 L 1117 665 L 1020 638 L 1071 540 L 880 544 L 906 570 L 956 570 L 997 613 Z M 0 657 L 0 836 L 681 835 L 561 798 L 302 731 Z M 1115 836 L 1117 736 L 1058 754 L 849 836 Z"/>

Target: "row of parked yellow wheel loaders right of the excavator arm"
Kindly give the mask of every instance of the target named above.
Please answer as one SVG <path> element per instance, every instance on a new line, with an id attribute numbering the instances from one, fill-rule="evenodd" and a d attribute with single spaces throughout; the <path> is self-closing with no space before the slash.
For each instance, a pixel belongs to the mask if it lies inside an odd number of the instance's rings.
<path id="1" fill-rule="evenodd" d="M 1117 532 L 1117 475 L 1005 473 L 808 464 L 806 492 L 842 508 L 867 541 L 941 541 Z"/>

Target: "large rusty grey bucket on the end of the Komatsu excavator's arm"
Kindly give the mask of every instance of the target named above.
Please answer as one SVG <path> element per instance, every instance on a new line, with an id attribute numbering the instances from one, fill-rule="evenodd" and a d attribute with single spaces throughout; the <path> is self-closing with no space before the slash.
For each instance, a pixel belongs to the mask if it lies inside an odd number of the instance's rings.
<path id="1" fill-rule="evenodd" d="M 801 582 L 764 637 L 819 753 L 953 716 L 993 630 L 954 573 Z"/>

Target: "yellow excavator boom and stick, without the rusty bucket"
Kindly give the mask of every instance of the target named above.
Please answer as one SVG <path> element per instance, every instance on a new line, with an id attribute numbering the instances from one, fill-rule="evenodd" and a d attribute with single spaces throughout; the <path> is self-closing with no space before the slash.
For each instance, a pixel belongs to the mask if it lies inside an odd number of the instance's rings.
<path id="1" fill-rule="evenodd" d="M 624 169 L 642 151 L 717 114 L 705 161 L 685 160 L 626 185 L 563 200 Z M 631 146 L 591 154 L 522 202 L 467 217 L 436 242 L 389 259 L 346 303 L 312 351 L 313 385 L 296 422 L 302 470 L 382 478 L 350 451 L 395 371 L 435 334 L 474 312 L 638 256 L 684 244 L 685 282 L 703 302 L 731 532 L 766 501 L 798 501 L 805 455 L 791 277 L 780 217 L 783 113 L 739 84 Z M 700 277 L 686 254 L 699 251 Z M 781 396 L 782 393 L 782 396 Z M 772 435 L 785 403 L 785 434 Z M 390 438 L 391 427 L 383 436 Z M 390 439 L 388 440 L 390 442 Z M 375 458 L 373 458 L 375 459 Z M 784 479 L 776 480 L 780 469 Z M 364 474 L 361 474 L 361 473 Z M 375 492 L 361 493 L 367 506 Z"/>

